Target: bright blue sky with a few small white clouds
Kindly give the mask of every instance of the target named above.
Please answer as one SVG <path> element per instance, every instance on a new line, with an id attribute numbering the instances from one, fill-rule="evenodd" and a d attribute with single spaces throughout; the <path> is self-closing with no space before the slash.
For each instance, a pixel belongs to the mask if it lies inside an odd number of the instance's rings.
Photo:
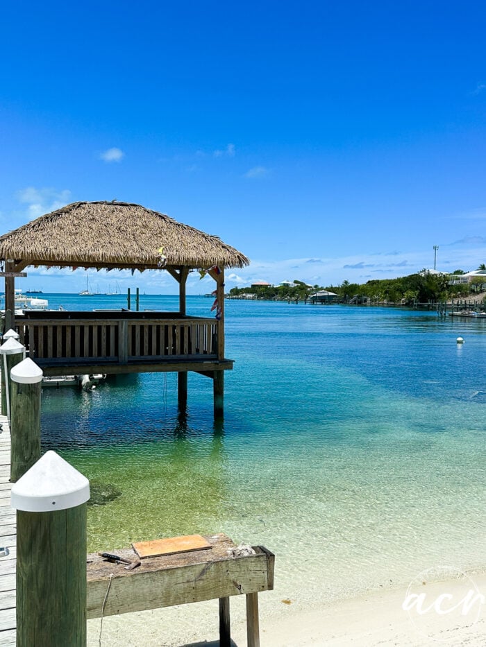
<path id="1" fill-rule="evenodd" d="M 258 279 L 486 262 L 481 2 L 8 3 L 0 231 L 76 200 L 221 236 Z M 160 275 L 164 276 L 160 276 Z M 176 291 L 167 273 L 97 281 Z M 85 273 L 30 270 L 78 291 Z M 205 288 L 199 277 L 189 291 Z"/>

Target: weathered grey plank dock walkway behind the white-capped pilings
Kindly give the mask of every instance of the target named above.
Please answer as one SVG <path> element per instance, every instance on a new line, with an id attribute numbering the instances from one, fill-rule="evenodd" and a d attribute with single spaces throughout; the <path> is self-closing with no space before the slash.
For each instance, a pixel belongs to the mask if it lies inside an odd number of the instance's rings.
<path id="1" fill-rule="evenodd" d="M 0 557 L 0 647 L 15 646 L 15 558 L 17 526 L 10 508 L 10 429 L 0 415 L 0 547 L 9 554 Z"/>

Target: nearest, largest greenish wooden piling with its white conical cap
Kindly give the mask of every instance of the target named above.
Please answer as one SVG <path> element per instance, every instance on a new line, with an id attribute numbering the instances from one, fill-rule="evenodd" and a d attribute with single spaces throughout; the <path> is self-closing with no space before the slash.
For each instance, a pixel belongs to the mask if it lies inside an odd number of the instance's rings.
<path id="1" fill-rule="evenodd" d="M 86 646 L 90 482 L 48 451 L 12 485 L 17 509 L 17 647 Z"/>

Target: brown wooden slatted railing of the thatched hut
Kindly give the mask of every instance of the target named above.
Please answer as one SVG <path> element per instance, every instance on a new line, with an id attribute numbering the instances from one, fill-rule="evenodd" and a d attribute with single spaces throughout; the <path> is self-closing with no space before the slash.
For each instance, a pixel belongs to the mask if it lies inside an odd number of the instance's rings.
<path id="1" fill-rule="evenodd" d="M 218 359 L 218 323 L 205 318 L 16 320 L 33 359 L 121 364 Z"/>

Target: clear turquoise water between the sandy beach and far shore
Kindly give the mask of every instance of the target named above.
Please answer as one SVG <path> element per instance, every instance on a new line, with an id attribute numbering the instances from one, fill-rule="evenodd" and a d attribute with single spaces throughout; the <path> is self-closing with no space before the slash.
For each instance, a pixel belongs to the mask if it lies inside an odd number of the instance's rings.
<path id="1" fill-rule="evenodd" d="M 121 297 L 47 295 L 52 307 Z M 212 301 L 188 297 L 189 314 Z M 141 309 L 177 309 L 141 297 Z M 464 337 L 464 345 L 455 339 Z M 43 449 L 118 496 L 90 506 L 90 550 L 223 531 L 277 555 L 306 605 L 486 566 L 486 324 L 435 313 L 228 301 L 225 420 L 212 382 L 113 377 L 42 394 Z"/>

